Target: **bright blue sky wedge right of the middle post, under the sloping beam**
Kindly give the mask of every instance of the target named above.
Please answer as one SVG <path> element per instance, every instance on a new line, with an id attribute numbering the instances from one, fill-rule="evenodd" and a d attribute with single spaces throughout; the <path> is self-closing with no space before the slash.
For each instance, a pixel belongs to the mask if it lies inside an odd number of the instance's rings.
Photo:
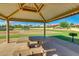
<path id="1" fill-rule="evenodd" d="M 79 24 L 79 14 L 76 14 L 76 15 L 73 15 L 73 16 L 70 16 L 70 17 L 66 17 L 66 18 L 63 18 L 63 19 L 59 19 L 59 20 L 50 22 L 49 24 L 59 24 L 60 22 L 63 22 L 63 21 L 66 21 L 66 22 L 69 22 L 69 23 L 74 23 L 74 24 Z"/>

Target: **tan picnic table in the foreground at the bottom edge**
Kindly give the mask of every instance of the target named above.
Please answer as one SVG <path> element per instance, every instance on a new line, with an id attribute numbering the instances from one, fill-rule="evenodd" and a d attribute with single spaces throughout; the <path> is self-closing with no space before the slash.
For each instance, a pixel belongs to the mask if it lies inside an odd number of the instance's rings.
<path id="1" fill-rule="evenodd" d="M 18 49 L 14 51 L 15 56 L 37 56 L 43 55 L 44 49 L 42 46 L 36 48 L 29 48 L 29 46 L 20 46 Z"/>

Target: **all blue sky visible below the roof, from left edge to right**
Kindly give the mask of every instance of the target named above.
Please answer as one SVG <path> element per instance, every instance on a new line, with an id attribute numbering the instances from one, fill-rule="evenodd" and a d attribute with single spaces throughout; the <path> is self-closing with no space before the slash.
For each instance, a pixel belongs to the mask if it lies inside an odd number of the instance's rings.
<path id="1" fill-rule="evenodd" d="M 63 19 L 59 19 L 59 20 L 56 20 L 56 21 L 52 21 L 52 22 L 49 22 L 47 24 L 59 24 L 60 22 L 63 22 L 63 21 L 74 23 L 74 24 L 79 24 L 79 14 L 76 14 L 76 15 L 73 15 L 73 16 L 70 16 L 70 17 L 66 17 L 66 18 L 63 18 Z M 5 23 L 6 22 L 4 20 L 0 20 L 0 25 L 3 25 Z M 12 24 L 12 25 L 18 25 L 18 24 L 35 25 L 35 26 L 36 25 L 43 25 L 43 23 L 36 23 L 36 22 L 10 22 L 10 24 Z"/>

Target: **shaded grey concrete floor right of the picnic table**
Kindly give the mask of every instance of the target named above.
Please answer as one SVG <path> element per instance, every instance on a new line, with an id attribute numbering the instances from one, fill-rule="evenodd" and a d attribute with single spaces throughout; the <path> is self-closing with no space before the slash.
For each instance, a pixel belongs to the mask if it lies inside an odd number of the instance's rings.
<path id="1" fill-rule="evenodd" d="M 56 55 L 58 56 L 79 56 L 79 45 L 57 38 L 46 39 L 43 46 L 45 49 L 56 48 Z M 53 55 L 53 52 L 48 55 Z"/>

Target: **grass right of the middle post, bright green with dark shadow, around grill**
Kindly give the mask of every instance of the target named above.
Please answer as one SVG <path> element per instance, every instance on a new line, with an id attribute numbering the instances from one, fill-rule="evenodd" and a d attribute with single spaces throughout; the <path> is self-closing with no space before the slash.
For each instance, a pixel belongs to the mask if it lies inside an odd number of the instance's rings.
<path id="1" fill-rule="evenodd" d="M 67 30 L 53 30 L 54 32 L 59 32 L 59 33 L 56 33 L 56 34 L 50 34 L 50 36 L 53 36 L 53 37 L 56 37 L 56 38 L 59 38 L 59 39 L 62 39 L 62 40 L 65 40 L 65 41 L 69 41 L 71 42 L 72 39 L 71 39 L 71 36 L 69 36 L 69 33 L 77 33 L 77 36 L 75 37 L 75 42 L 74 43 L 77 43 L 79 44 L 79 32 L 76 32 L 76 31 L 67 31 Z"/>

